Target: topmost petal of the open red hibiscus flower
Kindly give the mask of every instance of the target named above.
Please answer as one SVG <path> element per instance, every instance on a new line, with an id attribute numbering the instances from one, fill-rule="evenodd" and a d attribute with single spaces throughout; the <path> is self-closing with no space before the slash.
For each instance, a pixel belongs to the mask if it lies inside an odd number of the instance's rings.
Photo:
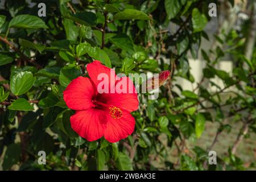
<path id="1" fill-rule="evenodd" d="M 101 64 L 100 61 L 98 60 L 95 60 L 93 61 L 92 63 L 88 64 L 87 67 L 86 67 L 86 70 L 88 72 L 88 75 L 89 77 L 92 79 L 92 81 L 94 82 L 94 84 L 96 85 L 96 88 L 97 88 L 97 85 L 102 81 L 104 80 L 103 78 L 99 79 L 98 80 L 98 76 L 101 74 L 101 73 L 105 73 L 104 75 L 102 76 L 107 76 L 107 81 L 108 83 L 110 84 L 110 68 L 108 67 L 105 67 L 104 65 Z M 114 69 L 113 69 L 113 81 L 114 81 L 114 78 L 115 78 L 115 72 L 114 72 Z M 113 82 L 114 84 L 114 82 Z"/>

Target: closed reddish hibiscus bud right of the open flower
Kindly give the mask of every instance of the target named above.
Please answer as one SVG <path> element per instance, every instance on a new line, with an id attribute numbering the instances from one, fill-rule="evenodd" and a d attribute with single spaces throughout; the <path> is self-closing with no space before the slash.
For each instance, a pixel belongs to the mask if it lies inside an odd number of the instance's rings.
<path id="1" fill-rule="evenodd" d="M 159 74 L 154 74 L 154 77 L 148 78 L 147 82 L 147 91 L 158 89 L 160 86 L 164 84 L 164 82 L 169 78 L 170 71 L 163 71 Z"/>

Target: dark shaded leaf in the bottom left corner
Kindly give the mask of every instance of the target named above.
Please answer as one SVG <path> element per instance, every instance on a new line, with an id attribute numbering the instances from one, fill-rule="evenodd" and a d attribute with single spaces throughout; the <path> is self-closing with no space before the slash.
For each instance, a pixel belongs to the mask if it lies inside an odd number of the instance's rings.
<path id="1" fill-rule="evenodd" d="M 3 169 L 10 169 L 13 164 L 19 162 L 20 157 L 20 145 L 17 143 L 12 143 L 10 146 L 7 147 L 5 152 L 5 158 L 3 159 Z"/>

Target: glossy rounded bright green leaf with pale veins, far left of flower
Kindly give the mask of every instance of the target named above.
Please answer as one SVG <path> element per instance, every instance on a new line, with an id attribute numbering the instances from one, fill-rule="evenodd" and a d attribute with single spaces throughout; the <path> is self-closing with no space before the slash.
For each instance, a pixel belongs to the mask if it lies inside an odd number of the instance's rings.
<path id="1" fill-rule="evenodd" d="M 36 78 L 31 72 L 19 72 L 11 78 L 10 89 L 15 96 L 20 96 L 31 89 Z"/>

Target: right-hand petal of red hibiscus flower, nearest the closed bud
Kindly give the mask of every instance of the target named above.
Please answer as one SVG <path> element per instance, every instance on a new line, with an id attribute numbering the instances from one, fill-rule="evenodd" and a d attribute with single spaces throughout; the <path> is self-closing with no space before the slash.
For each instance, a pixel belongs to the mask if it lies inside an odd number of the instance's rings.
<path id="1" fill-rule="evenodd" d="M 126 84 L 122 84 L 121 82 Z M 118 85 L 122 86 L 119 87 Z M 121 88 L 121 90 L 119 90 L 119 88 Z M 123 93 L 120 93 L 120 91 L 123 91 Z M 139 105 L 137 91 L 134 87 L 133 81 L 131 81 L 129 77 L 122 77 L 118 80 L 115 83 L 115 93 L 102 94 L 99 100 L 108 105 L 117 106 L 129 112 L 137 110 Z"/>

